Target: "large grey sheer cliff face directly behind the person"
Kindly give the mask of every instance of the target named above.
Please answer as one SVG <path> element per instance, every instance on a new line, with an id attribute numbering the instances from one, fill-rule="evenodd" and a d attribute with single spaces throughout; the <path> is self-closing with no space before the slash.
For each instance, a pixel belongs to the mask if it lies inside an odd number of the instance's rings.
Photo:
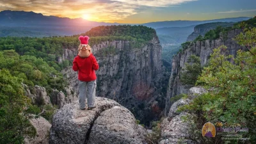
<path id="1" fill-rule="evenodd" d="M 113 40 L 91 45 L 99 70 L 97 70 L 97 97 L 116 100 L 134 113 L 144 124 L 159 115 L 161 80 L 161 45 L 157 36 L 138 48 L 124 40 Z M 64 49 L 62 60 L 73 60 L 77 48 Z M 74 91 L 78 91 L 77 72 L 71 67 L 62 72 Z M 162 102 L 163 103 L 163 102 Z M 163 105 L 163 104 L 162 104 Z M 160 108 L 161 107 L 161 108 Z"/>

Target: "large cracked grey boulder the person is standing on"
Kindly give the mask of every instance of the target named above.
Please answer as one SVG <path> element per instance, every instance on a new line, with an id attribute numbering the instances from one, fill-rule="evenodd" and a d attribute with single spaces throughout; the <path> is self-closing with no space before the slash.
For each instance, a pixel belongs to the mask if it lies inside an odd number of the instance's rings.
<path id="1" fill-rule="evenodd" d="M 96 108 L 79 109 L 78 101 L 66 104 L 52 118 L 49 143 L 144 143 L 146 130 L 132 113 L 115 100 L 96 97 Z"/>

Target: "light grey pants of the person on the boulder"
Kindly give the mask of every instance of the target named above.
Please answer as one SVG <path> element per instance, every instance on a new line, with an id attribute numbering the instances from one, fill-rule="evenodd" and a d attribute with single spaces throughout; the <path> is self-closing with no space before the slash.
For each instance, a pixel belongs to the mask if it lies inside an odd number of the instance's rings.
<path id="1" fill-rule="evenodd" d="M 88 108 L 94 107 L 96 91 L 95 81 L 79 81 L 79 105 L 80 109 L 85 108 L 85 101 L 87 97 Z"/>

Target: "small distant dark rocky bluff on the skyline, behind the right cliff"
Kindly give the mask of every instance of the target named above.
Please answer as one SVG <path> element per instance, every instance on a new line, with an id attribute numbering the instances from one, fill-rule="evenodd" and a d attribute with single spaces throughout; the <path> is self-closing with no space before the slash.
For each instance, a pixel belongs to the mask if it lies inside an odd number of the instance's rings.
<path id="1" fill-rule="evenodd" d="M 233 26 L 234 22 L 210 22 L 207 24 L 199 24 L 195 26 L 193 33 L 191 33 L 188 38 L 187 42 L 192 42 L 198 36 L 202 35 L 204 37 L 205 33 L 210 31 L 211 29 L 217 28 L 217 26 L 221 26 L 223 28 Z"/>

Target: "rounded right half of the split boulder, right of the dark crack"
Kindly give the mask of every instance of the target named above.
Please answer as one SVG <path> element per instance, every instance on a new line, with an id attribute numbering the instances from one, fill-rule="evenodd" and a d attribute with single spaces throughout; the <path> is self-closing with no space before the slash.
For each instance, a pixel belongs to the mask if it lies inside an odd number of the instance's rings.
<path id="1" fill-rule="evenodd" d="M 128 109 L 114 106 L 100 113 L 95 120 L 88 143 L 143 143 L 145 136 L 139 129 L 136 119 Z"/>

